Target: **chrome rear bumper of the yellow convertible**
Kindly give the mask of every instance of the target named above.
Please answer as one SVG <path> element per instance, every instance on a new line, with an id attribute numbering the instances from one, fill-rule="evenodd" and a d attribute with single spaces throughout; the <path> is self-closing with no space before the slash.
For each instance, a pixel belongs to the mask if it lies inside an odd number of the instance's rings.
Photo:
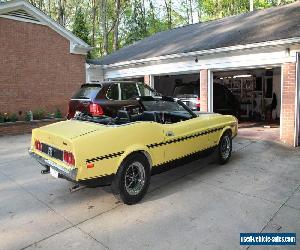
<path id="1" fill-rule="evenodd" d="M 63 178 L 69 181 L 76 182 L 76 176 L 77 176 L 77 169 L 68 170 L 64 167 L 58 165 L 57 163 L 45 159 L 44 157 L 36 154 L 31 149 L 28 150 L 29 155 L 34 158 L 36 161 L 38 161 L 46 170 L 50 170 L 50 168 L 54 169 L 56 172 L 58 172 L 58 178 Z"/>

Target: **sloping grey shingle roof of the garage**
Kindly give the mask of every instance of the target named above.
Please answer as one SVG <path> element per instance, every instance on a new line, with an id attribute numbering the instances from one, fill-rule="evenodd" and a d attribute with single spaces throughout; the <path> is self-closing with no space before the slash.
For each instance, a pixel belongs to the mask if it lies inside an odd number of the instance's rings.
<path id="1" fill-rule="evenodd" d="M 300 37 L 300 2 L 159 32 L 95 64 Z M 91 62 L 92 63 L 92 62 Z"/>

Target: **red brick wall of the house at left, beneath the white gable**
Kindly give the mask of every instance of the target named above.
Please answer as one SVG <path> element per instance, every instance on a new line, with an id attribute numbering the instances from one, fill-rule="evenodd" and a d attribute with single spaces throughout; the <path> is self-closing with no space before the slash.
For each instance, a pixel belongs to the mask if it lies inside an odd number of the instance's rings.
<path id="1" fill-rule="evenodd" d="M 0 18 L 0 112 L 39 108 L 66 114 L 68 100 L 85 82 L 85 56 L 44 25 Z"/>

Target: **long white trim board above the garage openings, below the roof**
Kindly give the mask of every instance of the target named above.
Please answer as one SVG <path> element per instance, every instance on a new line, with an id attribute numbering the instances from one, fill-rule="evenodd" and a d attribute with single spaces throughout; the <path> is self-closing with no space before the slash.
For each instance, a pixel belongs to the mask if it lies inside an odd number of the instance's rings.
<path id="1" fill-rule="evenodd" d="M 248 53 L 247 53 L 248 52 Z M 286 53 L 285 48 L 273 48 L 273 51 L 243 51 L 168 60 L 157 64 L 135 65 L 132 67 L 104 69 L 104 78 L 137 77 L 144 75 L 187 74 L 199 72 L 202 68 L 212 70 L 229 70 L 240 68 L 258 68 L 278 66 L 286 62 L 296 62 L 296 52 Z"/>

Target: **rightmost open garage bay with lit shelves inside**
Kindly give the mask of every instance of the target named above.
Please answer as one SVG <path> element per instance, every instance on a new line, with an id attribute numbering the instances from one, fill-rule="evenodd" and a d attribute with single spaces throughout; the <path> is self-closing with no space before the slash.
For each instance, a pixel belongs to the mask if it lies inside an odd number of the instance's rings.
<path id="1" fill-rule="evenodd" d="M 213 108 L 238 117 L 241 135 L 279 141 L 281 68 L 214 72 Z"/>

